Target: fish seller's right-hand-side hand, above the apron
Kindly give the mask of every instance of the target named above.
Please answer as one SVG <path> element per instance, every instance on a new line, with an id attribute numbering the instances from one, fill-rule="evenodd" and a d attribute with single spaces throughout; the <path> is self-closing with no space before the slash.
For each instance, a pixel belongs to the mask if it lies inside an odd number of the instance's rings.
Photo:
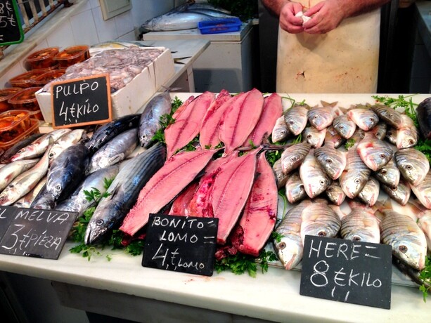
<path id="1" fill-rule="evenodd" d="M 325 0 L 309 8 L 304 15 L 311 17 L 302 25 L 304 32 L 325 34 L 340 25 L 345 18 L 345 11 L 340 7 L 340 1 Z"/>

